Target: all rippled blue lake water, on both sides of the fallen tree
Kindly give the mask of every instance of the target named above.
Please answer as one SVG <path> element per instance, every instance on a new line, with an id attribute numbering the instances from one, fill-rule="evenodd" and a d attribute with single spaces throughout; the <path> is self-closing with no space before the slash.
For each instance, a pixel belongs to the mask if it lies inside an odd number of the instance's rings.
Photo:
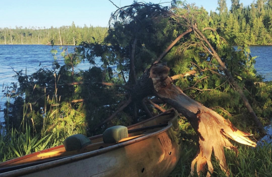
<path id="1" fill-rule="evenodd" d="M 66 46 L 68 52 L 72 52 L 74 46 Z M 0 88 L 11 86 L 15 71 L 25 70 L 27 74 L 37 71 L 40 67 L 51 67 L 54 61 L 50 52 L 51 46 L 45 45 L 0 45 Z M 63 64 L 60 56 L 61 49 L 54 46 L 53 49 L 58 50 L 57 60 Z M 272 80 L 272 46 L 252 46 L 252 56 L 257 56 L 255 68 L 259 74 L 265 77 L 265 80 Z M 12 69 L 13 68 L 13 69 Z M 80 64 L 78 69 L 88 69 L 89 64 Z M 3 89 L 2 89 L 3 90 Z M 3 104 L 6 101 L 3 93 L 0 92 L 0 111 L 3 110 Z M 3 113 L 0 112 L 0 121 L 3 120 Z"/>

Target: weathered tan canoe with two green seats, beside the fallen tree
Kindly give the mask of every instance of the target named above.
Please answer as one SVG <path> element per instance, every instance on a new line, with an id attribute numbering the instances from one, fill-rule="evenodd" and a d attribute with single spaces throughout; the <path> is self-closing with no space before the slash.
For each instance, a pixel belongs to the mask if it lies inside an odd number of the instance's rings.
<path id="1" fill-rule="evenodd" d="M 0 163 L 0 177 L 167 177 L 181 155 L 173 109 L 127 128 L 106 129 L 87 143 L 75 136 L 65 145 Z"/>

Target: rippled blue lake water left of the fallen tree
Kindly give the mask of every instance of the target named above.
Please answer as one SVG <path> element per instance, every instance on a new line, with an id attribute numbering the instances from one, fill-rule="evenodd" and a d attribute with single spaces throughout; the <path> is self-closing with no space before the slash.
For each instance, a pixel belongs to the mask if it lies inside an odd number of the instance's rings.
<path id="1" fill-rule="evenodd" d="M 51 68 L 54 61 L 52 49 L 57 50 L 55 59 L 64 64 L 61 52 L 67 48 L 68 52 L 73 52 L 74 46 L 46 46 L 46 45 L 0 45 L 0 122 L 3 121 L 4 103 L 6 97 L 3 97 L 5 87 L 12 86 L 11 82 L 17 82 L 13 77 L 16 73 L 13 71 L 23 70 L 23 73 L 32 74 L 41 67 Z M 79 64 L 75 70 L 88 69 L 88 62 Z"/>

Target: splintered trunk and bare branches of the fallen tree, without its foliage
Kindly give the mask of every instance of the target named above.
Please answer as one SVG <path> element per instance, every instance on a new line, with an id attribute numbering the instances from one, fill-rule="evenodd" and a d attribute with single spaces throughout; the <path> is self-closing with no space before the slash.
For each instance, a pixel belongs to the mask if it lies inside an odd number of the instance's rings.
<path id="1" fill-rule="evenodd" d="M 145 4 L 137 3 L 135 4 L 135 6 L 132 5 L 130 7 L 125 8 L 127 9 L 129 8 L 133 9 L 134 7 L 139 8 L 139 6 L 141 5 L 147 7 Z M 169 104 L 171 107 L 175 108 L 179 113 L 182 113 L 188 119 L 193 129 L 197 132 L 199 151 L 195 159 L 191 163 L 191 175 L 193 175 L 195 171 L 197 174 L 200 174 L 204 170 L 205 164 L 207 164 L 209 171 L 207 173 L 207 176 L 210 176 L 210 174 L 213 173 L 211 155 L 212 152 L 214 152 L 216 159 L 220 162 L 221 169 L 225 172 L 227 176 L 229 176 L 229 171 L 225 160 L 223 147 L 232 149 L 236 153 L 238 153 L 238 150 L 234 145 L 230 143 L 228 139 L 230 138 L 241 144 L 250 145 L 253 147 L 256 146 L 255 142 L 249 139 L 248 136 L 250 136 L 250 134 L 238 130 L 235 126 L 232 125 L 232 123 L 229 120 L 224 119 L 220 114 L 214 112 L 213 110 L 205 107 L 203 104 L 191 99 L 186 94 L 184 94 L 180 88 L 176 87 L 172 83 L 172 79 L 168 76 L 170 68 L 167 67 L 166 64 L 160 64 L 159 62 L 166 56 L 166 54 L 171 50 L 171 48 L 173 48 L 182 38 L 184 38 L 187 34 L 194 32 L 196 42 L 191 41 L 186 42 L 185 44 L 187 46 L 183 50 L 186 50 L 187 48 L 190 48 L 192 46 L 197 46 L 203 48 L 204 51 L 210 55 L 210 57 L 215 58 L 216 61 L 218 62 L 218 67 L 221 67 L 220 69 L 221 73 L 218 73 L 218 75 L 222 75 L 229 80 L 229 82 L 240 94 L 242 100 L 244 101 L 244 104 L 249 109 L 250 113 L 253 112 L 253 109 L 251 108 L 246 97 L 244 96 L 240 86 L 234 80 L 232 74 L 227 69 L 226 65 L 222 62 L 216 50 L 213 48 L 213 46 L 210 44 L 210 42 L 207 40 L 204 34 L 200 30 L 198 30 L 194 20 L 192 19 L 189 20 L 184 15 L 180 16 L 162 9 L 158 10 L 156 9 L 157 7 L 153 8 L 155 9 L 154 11 L 160 10 L 159 12 L 153 13 L 154 19 L 158 18 L 158 16 L 154 14 L 160 14 L 159 16 L 164 16 L 164 18 L 168 17 L 171 19 L 175 19 L 175 21 L 178 22 L 179 24 L 186 26 L 187 30 L 178 35 L 178 37 L 170 43 L 168 48 L 166 48 L 164 52 L 160 54 L 160 56 L 153 62 L 153 65 L 146 72 L 144 72 L 144 74 L 137 81 L 135 69 L 136 67 L 135 55 L 136 44 L 138 38 L 140 37 L 138 37 L 137 35 L 135 36 L 134 40 L 132 40 L 131 43 L 132 46 L 130 49 L 129 60 L 131 80 L 130 83 L 132 85 L 131 96 L 129 97 L 128 101 L 121 107 L 119 107 L 119 109 L 113 115 L 117 115 L 117 113 L 125 109 L 125 107 L 127 107 L 131 102 L 135 105 L 135 102 L 146 99 L 147 96 L 155 95 L 159 97 L 161 100 Z M 124 11 L 124 8 L 120 8 L 116 12 L 116 14 L 118 14 L 118 12 L 122 12 L 122 14 L 124 15 L 130 12 L 130 10 Z M 137 17 L 135 17 L 134 20 L 135 21 L 139 20 L 138 19 L 139 16 L 141 16 L 141 14 L 137 14 Z M 204 29 L 204 31 L 205 30 L 207 29 Z M 202 69 L 202 71 L 203 70 L 204 69 Z M 188 71 L 188 73 L 195 74 L 196 72 Z M 184 75 L 180 75 L 180 77 L 182 76 Z M 177 79 L 178 76 L 175 76 L 173 78 Z M 205 79 L 205 77 L 203 79 Z M 159 110 L 163 111 L 163 109 Z M 147 108 L 145 108 L 145 111 L 149 113 L 149 110 Z M 257 119 L 255 113 L 253 112 L 252 115 L 256 122 L 256 125 L 259 127 L 260 131 L 264 133 L 264 129 L 259 120 Z M 113 118 L 114 116 L 110 116 L 109 118 L 104 120 L 103 123 L 106 123 L 106 121 L 110 121 Z M 101 126 L 101 124 L 99 126 Z"/>

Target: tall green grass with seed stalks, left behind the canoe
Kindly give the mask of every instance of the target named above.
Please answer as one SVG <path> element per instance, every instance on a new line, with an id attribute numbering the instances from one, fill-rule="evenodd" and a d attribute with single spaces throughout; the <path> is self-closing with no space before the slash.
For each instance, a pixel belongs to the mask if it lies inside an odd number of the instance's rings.
<path id="1" fill-rule="evenodd" d="M 24 96 L 23 109 L 21 114 L 21 122 L 19 128 L 15 129 L 10 122 L 9 113 L 6 113 L 5 126 L 0 126 L 0 162 L 21 157 L 33 152 L 37 152 L 56 145 L 61 145 L 66 137 L 75 133 L 82 133 L 75 130 L 75 126 L 69 126 L 66 120 L 60 117 L 60 96 L 57 94 L 57 83 L 59 77 L 55 79 L 53 94 L 47 93 L 44 88 L 44 105 L 42 106 L 41 114 L 33 110 L 31 102 L 27 102 L 27 97 Z M 35 91 L 34 85 L 32 93 Z M 6 93 L 6 111 L 9 111 L 11 103 L 11 93 L 13 90 L 4 89 Z M 25 94 L 26 95 L 26 94 Z M 70 110 L 69 110 L 70 111 Z M 72 117 L 72 116 L 71 116 Z M 42 119 L 42 125 L 39 130 L 35 129 L 37 121 Z"/>

